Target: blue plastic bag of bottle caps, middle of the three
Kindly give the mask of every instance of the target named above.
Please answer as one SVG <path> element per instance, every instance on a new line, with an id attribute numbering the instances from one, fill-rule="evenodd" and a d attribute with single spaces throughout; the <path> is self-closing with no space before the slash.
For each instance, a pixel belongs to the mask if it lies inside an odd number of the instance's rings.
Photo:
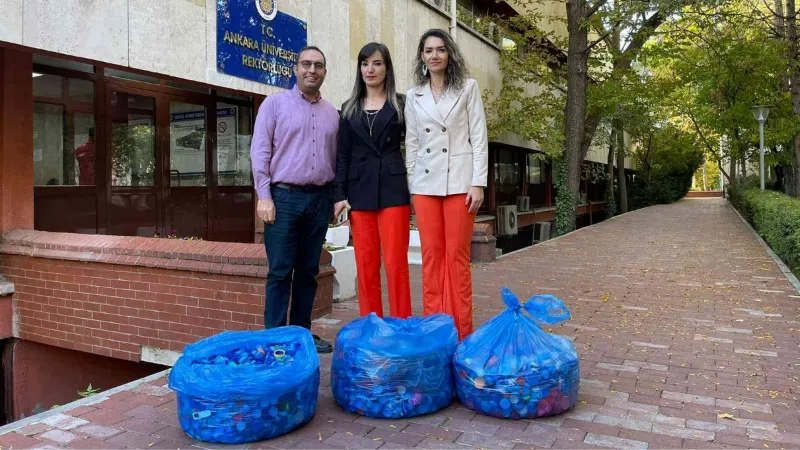
<path id="1" fill-rule="evenodd" d="M 374 313 L 342 327 L 331 364 L 333 398 L 373 418 L 414 417 L 453 401 L 458 342 L 446 314 L 381 319 Z"/>

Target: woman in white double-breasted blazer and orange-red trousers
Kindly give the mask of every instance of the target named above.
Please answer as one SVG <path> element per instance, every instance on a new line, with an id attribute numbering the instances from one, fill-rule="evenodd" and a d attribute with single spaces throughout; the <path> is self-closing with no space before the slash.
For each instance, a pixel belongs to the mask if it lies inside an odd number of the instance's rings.
<path id="1" fill-rule="evenodd" d="M 472 332 L 470 245 L 483 202 L 488 136 L 481 92 L 450 35 L 422 35 L 408 90 L 406 170 L 422 244 L 424 314 L 455 319 Z"/>

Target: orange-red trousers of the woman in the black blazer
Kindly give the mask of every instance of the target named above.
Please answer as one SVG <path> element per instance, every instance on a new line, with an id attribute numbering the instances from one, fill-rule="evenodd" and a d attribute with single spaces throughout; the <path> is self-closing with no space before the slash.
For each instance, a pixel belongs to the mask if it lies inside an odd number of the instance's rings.
<path id="1" fill-rule="evenodd" d="M 408 206 L 350 213 L 358 270 L 358 306 L 362 316 L 374 312 L 383 317 L 381 253 L 389 288 L 389 315 L 401 319 L 411 316 L 408 277 L 410 215 Z"/>

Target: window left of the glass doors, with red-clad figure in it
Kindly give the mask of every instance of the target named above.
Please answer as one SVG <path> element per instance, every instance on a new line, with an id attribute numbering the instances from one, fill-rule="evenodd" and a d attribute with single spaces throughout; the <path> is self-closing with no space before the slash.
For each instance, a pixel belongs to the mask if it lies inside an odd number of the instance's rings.
<path id="1" fill-rule="evenodd" d="M 95 184 L 94 82 L 33 73 L 36 186 Z"/>

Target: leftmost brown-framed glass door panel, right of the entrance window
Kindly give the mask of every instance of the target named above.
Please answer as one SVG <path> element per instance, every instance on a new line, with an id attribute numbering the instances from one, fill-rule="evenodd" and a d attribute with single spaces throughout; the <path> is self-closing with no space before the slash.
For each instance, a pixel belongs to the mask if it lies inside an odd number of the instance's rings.
<path id="1" fill-rule="evenodd" d="M 161 231 L 163 203 L 156 94 L 110 86 L 107 99 L 108 234 L 152 237 Z"/>

